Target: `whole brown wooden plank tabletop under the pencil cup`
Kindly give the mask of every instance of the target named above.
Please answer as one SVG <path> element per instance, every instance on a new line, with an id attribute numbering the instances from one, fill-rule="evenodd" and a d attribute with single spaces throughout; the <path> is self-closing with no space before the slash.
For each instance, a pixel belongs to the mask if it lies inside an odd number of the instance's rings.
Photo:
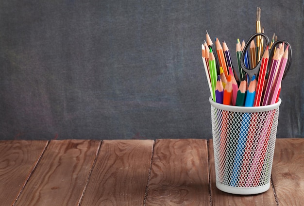
<path id="1" fill-rule="evenodd" d="M 303 206 L 304 139 L 276 139 L 270 189 L 215 186 L 212 140 L 1 140 L 1 206 Z"/>

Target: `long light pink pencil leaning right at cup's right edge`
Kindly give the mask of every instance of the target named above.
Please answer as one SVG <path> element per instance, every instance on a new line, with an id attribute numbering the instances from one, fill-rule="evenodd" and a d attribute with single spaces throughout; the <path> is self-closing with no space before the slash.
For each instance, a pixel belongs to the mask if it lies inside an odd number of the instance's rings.
<path id="1" fill-rule="evenodd" d="M 282 56 L 280 66 L 278 68 L 278 74 L 275 82 L 273 83 L 271 95 L 270 95 L 270 102 L 269 104 L 276 103 L 279 99 L 280 91 L 281 91 L 281 82 L 283 79 L 284 71 L 287 65 L 287 60 L 288 60 L 288 45 L 287 48 Z"/>

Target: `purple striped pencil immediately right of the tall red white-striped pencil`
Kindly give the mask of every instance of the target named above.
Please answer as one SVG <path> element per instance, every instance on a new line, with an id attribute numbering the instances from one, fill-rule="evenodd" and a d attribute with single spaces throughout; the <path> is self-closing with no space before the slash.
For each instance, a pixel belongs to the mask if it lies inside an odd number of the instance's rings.
<path id="1" fill-rule="evenodd" d="M 268 80 L 267 80 L 267 85 L 266 85 L 266 88 L 265 88 L 265 93 L 263 95 L 262 106 L 268 105 L 268 101 L 269 101 L 269 98 L 270 98 L 270 91 L 271 91 L 271 88 L 273 86 L 273 81 L 274 81 L 275 74 L 276 74 L 276 71 L 277 71 L 279 56 L 280 56 L 280 53 L 275 52 L 272 59 L 271 59 L 270 72 L 269 72 L 269 75 L 268 75 Z"/>

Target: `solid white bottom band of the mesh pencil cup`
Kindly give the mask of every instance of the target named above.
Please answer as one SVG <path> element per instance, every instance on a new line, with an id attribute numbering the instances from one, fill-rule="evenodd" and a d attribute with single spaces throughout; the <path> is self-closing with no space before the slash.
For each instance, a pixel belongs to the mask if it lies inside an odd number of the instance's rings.
<path id="1" fill-rule="evenodd" d="M 250 194 L 259 194 L 266 192 L 270 188 L 270 182 L 263 186 L 252 187 L 252 188 L 241 188 L 241 187 L 231 187 L 227 185 L 223 185 L 216 181 L 216 186 L 223 192 L 232 193 L 232 194 L 242 194 L 242 195 L 250 195 Z"/>

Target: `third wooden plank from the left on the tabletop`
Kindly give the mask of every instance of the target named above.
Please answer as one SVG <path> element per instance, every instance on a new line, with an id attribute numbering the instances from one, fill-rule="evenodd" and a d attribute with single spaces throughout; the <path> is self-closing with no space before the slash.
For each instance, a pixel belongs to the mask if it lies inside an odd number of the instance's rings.
<path id="1" fill-rule="evenodd" d="M 82 206 L 142 206 L 153 140 L 104 140 Z"/>

